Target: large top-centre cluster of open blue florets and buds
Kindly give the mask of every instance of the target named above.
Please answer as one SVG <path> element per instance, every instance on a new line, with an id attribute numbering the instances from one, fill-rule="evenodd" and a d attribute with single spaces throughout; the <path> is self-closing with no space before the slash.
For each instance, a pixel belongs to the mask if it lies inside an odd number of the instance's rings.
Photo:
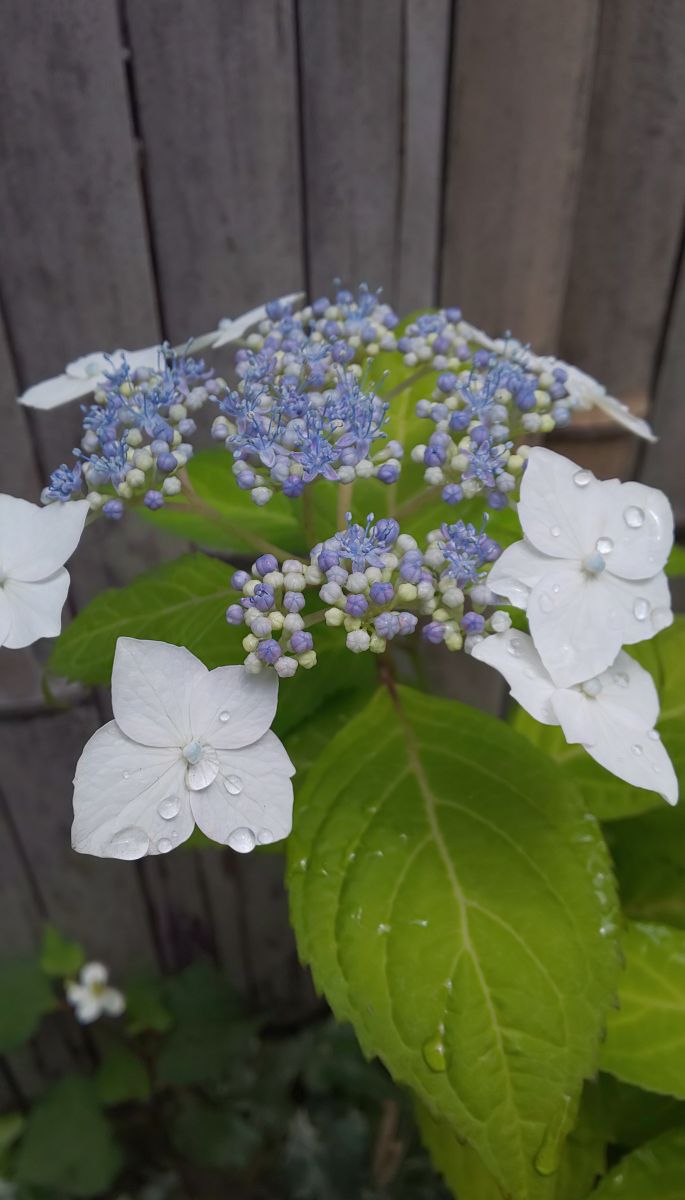
<path id="1" fill-rule="evenodd" d="M 239 382 L 212 425 L 239 487 L 262 505 L 275 491 L 298 497 L 318 478 L 396 482 L 403 448 L 386 439 L 387 403 L 362 367 L 396 347 L 392 310 L 361 287 L 300 311 L 275 301 L 266 313 L 235 355 Z"/>

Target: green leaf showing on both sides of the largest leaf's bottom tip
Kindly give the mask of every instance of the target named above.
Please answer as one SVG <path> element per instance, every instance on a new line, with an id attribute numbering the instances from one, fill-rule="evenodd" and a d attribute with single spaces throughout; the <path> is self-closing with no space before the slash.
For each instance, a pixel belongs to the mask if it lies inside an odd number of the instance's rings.
<path id="1" fill-rule="evenodd" d="M 423 1105 L 416 1106 L 416 1118 L 433 1165 L 456 1196 L 504 1200 L 501 1188 L 471 1146 L 459 1141 L 450 1127 L 435 1121 Z M 564 1144 L 559 1170 L 541 1182 L 543 1190 L 540 1194 L 548 1200 L 585 1200 L 605 1170 L 606 1142 L 600 1091 L 596 1085 L 588 1084 L 578 1121 Z"/>

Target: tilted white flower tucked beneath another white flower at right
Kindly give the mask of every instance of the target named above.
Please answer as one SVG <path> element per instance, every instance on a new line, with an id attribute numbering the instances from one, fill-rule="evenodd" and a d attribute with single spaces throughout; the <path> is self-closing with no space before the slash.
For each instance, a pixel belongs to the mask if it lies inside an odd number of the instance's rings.
<path id="1" fill-rule="evenodd" d="M 528 634 L 510 629 L 483 638 L 473 656 L 504 676 L 511 695 L 543 725 L 560 725 L 596 762 L 635 787 L 678 802 L 678 779 L 654 728 L 654 680 L 624 650 L 607 671 L 572 688 L 558 688 Z"/>

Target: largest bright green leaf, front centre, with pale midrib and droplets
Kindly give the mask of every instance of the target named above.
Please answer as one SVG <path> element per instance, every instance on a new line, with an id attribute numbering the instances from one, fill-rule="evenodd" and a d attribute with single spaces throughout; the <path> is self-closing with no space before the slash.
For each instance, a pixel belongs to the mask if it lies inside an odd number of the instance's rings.
<path id="1" fill-rule="evenodd" d="M 546 1195 L 613 996 L 594 817 L 548 761 L 461 704 L 383 691 L 329 744 L 288 844 L 300 954 L 365 1052 Z M 557 1164 L 558 1165 L 558 1164 Z"/>

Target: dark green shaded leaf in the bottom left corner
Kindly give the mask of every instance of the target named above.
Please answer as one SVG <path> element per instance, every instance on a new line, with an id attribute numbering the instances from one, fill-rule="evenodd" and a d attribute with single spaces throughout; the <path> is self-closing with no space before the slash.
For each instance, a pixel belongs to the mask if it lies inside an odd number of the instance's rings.
<path id="1" fill-rule="evenodd" d="M 76 1075 L 61 1079 L 29 1116 L 17 1158 L 19 1183 L 98 1196 L 120 1166 L 121 1153 L 94 1085 Z"/>

